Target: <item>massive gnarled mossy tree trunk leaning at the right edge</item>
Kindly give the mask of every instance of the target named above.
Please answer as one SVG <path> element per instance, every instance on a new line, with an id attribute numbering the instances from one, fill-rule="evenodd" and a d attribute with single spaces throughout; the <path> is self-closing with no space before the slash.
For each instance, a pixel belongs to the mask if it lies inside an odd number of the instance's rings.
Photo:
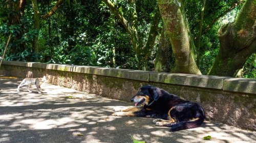
<path id="1" fill-rule="evenodd" d="M 233 23 L 218 31 L 220 52 L 208 75 L 233 76 L 256 52 L 256 2 L 247 0 Z"/>

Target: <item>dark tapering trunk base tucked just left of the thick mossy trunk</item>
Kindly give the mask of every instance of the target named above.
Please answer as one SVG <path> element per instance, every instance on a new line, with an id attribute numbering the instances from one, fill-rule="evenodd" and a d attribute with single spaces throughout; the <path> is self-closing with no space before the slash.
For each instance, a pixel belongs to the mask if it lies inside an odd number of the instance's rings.
<path id="1" fill-rule="evenodd" d="M 172 45 L 170 44 L 169 38 L 163 27 L 159 40 L 159 47 L 157 49 L 154 70 L 159 72 L 170 72 L 174 65 L 174 61 Z"/>

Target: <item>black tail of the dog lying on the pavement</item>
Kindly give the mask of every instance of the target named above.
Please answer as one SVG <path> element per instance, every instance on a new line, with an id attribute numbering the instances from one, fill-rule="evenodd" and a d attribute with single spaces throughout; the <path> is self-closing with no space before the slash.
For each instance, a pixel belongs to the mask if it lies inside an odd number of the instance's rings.
<path id="1" fill-rule="evenodd" d="M 191 129 L 199 127 L 204 121 L 204 116 L 197 117 L 195 120 L 187 121 L 187 122 L 176 122 L 172 123 L 170 126 L 171 132 L 176 132 L 179 130 Z"/>

